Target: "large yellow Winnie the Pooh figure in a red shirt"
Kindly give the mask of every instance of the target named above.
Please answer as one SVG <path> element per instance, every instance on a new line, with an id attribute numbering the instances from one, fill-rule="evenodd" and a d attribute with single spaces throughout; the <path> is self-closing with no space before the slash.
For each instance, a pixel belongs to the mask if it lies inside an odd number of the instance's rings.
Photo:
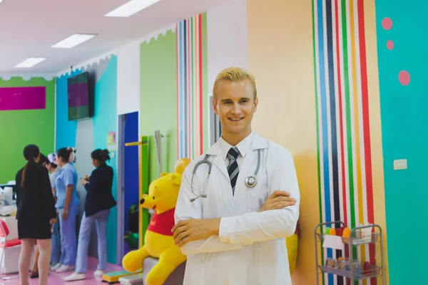
<path id="1" fill-rule="evenodd" d="M 143 260 L 147 257 L 158 258 L 158 263 L 146 276 L 147 285 L 161 285 L 168 276 L 182 264 L 186 257 L 174 244 L 175 204 L 181 185 L 181 175 L 190 160 L 180 159 L 175 164 L 174 173 L 161 174 L 161 177 L 151 182 L 148 195 L 143 195 L 141 207 L 153 209 L 151 218 L 144 236 L 144 246 L 141 249 L 129 252 L 122 259 L 122 266 L 126 271 L 137 271 L 143 267 Z"/>

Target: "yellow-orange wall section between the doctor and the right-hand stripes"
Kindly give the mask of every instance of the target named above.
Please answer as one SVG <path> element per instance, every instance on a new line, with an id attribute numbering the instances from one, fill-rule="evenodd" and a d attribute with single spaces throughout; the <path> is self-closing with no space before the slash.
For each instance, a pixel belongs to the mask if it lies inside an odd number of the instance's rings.
<path id="1" fill-rule="evenodd" d="M 248 0 L 248 65 L 259 95 L 253 129 L 295 157 L 302 201 L 293 281 L 310 284 L 305 281 L 315 280 L 313 229 L 320 222 L 310 0 Z"/>

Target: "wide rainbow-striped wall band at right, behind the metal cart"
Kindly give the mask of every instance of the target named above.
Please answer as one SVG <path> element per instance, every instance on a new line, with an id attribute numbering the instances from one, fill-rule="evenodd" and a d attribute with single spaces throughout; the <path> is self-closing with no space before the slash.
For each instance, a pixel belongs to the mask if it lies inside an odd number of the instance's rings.
<path id="1" fill-rule="evenodd" d="M 363 0 L 312 0 L 320 222 L 374 223 Z M 340 251 L 322 252 L 338 257 Z M 359 261 L 374 264 L 374 246 Z M 349 280 L 348 280 L 349 283 Z M 376 279 L 360 281 L 376 284 Z M 345 284 L 325 274 L 323 284 Z"/>

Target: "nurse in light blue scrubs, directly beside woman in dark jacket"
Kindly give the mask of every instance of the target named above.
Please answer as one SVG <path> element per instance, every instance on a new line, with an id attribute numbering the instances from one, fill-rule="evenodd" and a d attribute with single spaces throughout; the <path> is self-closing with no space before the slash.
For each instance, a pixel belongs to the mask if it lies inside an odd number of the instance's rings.
<path id="1" fill-rule="evenodd" d="M 61 167 L 55 182 L 56 209 L 58 209 L 61 235 L 61 258 L 58 264 L 52 267 L 56 272 L 73 271 L 76 265 L 76 218 L 80 201 L 76 188 L 78 176 L 70 160 L 72 152 L 71 147 L 64 147 L 56 152 L 56 162 Z"/>

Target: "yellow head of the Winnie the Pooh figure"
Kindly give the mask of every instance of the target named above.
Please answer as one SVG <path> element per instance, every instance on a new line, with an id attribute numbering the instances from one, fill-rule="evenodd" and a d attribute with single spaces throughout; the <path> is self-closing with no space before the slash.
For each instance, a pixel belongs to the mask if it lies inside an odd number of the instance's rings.
<path id="1" fill-rule="evenodd" d="M 180 184 L 181 175 L 178 173 L 162 173 L 161 177 L 151 182 L 148 195 L 143 195 L 140 201 L 141 207 L 160 212 L 175 208 Z"/>

